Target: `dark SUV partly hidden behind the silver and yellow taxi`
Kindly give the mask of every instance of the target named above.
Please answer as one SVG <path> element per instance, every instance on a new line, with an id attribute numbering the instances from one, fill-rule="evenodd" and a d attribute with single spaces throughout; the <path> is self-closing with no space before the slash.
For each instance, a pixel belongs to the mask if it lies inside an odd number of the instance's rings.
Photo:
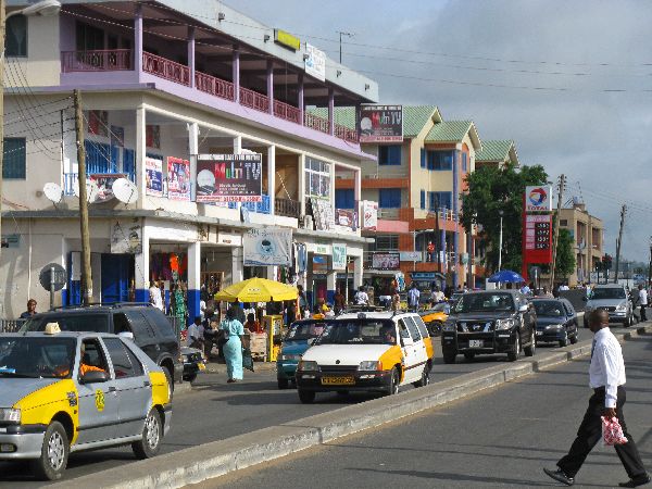
<path id="1" fill-rule="evenodd" d="M 171 398 L 174 383 L 181 381 L 184 363 L 177 337 L 167 317 L 150 304 L 115 303 L 55 309 L 34 315 L 21 331 L 43 331 L 48 323 L 59 323 L 62 331 L 133 336 L 134 342 L 163 368 Z"/>

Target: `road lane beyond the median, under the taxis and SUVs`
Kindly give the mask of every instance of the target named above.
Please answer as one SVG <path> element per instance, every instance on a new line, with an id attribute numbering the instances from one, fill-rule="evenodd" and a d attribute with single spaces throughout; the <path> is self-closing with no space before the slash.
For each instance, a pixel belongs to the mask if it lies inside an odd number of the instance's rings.
<path id="1" fill-rule="evenodd" d="M 580 340 L 590 333 L 580 331 Z M 439 338 L 436 341 L 436 362 L 431 381 L 446 380 L 462 374 L 478 371 L 496 363 L 505 362 L 505 355 L 487 355 L 467 362 L 457 356 L 457 363 L 443 364 Z M 551 347 L 539 351 L 550 351 Z M 312 405 L 299 403 L 296 390 L 278 390 L 275 371 L 265 369 L 244 374 L 241 384 L 226 384 L 224 374 L 206 374 L 195 383 L 191 392 L 177 396 L 174 400 L 173 427 L 165 438 L 162 453 L 221 440 L 255 429 L 265 428 L 313 414 L 336 410 L 352 402 L 364 402 L 368 396 L 356 394 L 341 398 L 337 394 L 317 394 Z M 404 389 L 412 389 L 408 386 Z M 70 457 L 66 478 L 79 477 L 106 468 L 135 462 L 129 448 L 74 453 Z M 32 488 L 35 481 L 25 464 L 0 462 L 0 486 Z"/>

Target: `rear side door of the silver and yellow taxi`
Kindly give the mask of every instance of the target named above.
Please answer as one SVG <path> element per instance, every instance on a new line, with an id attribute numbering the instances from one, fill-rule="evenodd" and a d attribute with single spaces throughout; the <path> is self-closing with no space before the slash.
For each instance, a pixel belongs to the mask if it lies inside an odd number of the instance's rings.
<path id="1" fill-rule="evenodd" d="M 121 338 L 103 338 L 109 352 L 118 400 L 116 428 L 118 438 L 142 432 L 145 418 L 152 405 L 152 389 L 149 378 L 136 355 Z"/>

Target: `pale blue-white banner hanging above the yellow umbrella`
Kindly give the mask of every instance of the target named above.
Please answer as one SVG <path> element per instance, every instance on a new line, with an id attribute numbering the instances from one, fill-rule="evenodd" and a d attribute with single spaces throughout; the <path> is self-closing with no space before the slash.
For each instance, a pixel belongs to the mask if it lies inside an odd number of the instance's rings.
<path id="1" fill-rule="evenodd" d="M 249 229 L 243 236 L 244 266 L 290 266 L 291 229 Z"/>

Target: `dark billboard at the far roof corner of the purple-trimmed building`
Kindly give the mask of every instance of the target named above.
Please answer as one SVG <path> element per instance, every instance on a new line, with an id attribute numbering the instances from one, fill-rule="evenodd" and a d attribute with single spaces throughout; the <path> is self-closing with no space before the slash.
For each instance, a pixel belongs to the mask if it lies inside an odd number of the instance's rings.
<path id="1" fill-rule="evenodd" d="M 362 105 L 360 108 L 360 142 L 401 142 L 403 140 L 402 105 Z"/>

